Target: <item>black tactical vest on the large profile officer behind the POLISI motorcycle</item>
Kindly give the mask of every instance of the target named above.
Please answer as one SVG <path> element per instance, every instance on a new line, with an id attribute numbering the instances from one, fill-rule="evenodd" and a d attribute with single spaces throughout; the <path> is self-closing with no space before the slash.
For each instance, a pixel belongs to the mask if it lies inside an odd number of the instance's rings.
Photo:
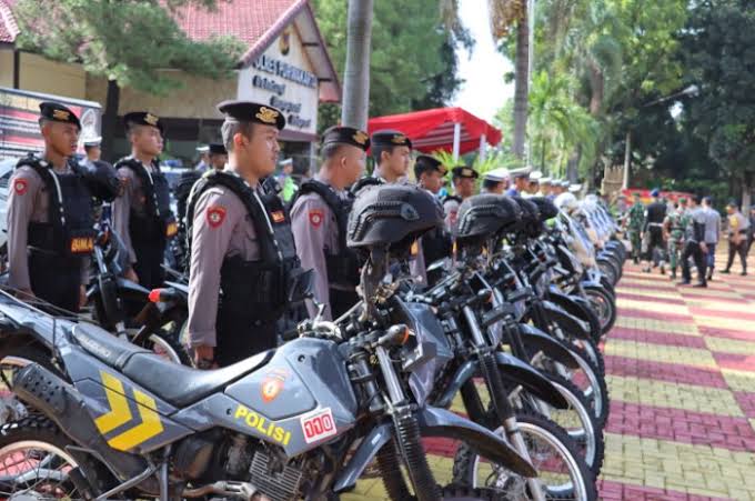
<path id="1" fill-rule="evenodd" d="M 278 196 L 261 194 L 233 173 L 207 172 L 194 184 L 187 206 L 187 263 L 191 262 L 197 201 L 215 186 L 231 190 L 246 208 L 261 255 L 256 261 L 245 261 L 239 255 L 224 258 L 220 270 L 221 307 L 249 320 L 276 320 L 288 307 L 292 271 L 300 268 L 291 220 Z"/>

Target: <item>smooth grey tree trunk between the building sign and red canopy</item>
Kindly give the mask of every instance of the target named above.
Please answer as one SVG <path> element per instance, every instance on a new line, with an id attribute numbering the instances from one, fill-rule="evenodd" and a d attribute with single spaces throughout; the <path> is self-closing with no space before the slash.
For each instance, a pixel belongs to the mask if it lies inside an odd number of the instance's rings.
<path id="1" fill-rule="evenodd" d="M 366 130 L 370 109 L 370 52 L 373 0 L 349 0 L 346 66 L 341 124 Z"/>

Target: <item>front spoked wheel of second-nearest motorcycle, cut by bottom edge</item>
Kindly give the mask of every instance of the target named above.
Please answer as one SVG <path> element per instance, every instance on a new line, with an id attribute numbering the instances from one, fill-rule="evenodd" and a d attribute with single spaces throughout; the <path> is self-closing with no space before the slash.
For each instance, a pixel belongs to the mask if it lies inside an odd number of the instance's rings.
<path id="1" fill-rule="evenodd" d="M 517 413 L 516 421 L 530 460 L 537 470 L 536 482 L 548 500 L 595 500 L 597 491 L 590 469 L 566 434 L 553 422 L 530 413 Z M 494 433 L 504 435 L 503 428 Z M 527 479 L 502 464 L 491 463 L 466 444 L 454 459 L 454 481 L 472 487 L 494 489 L 501 499 L 536 499 Z"/>

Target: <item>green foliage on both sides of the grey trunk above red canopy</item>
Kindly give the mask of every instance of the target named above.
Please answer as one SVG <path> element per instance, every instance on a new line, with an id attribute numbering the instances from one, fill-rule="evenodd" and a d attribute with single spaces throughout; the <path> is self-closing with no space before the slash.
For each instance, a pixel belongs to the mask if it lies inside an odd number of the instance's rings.
<path id="1" fill-rule="evenodd" d="M 312 3 L 331 58 L 343 74 L 348 2 Z M 456 74 L 455 48 L 471 44 L 469 34 L 459 26 L 444 27 L 437 0 L 376 1 L 373 16 L 370 116 L 445 106 L 463 82 Z"/>

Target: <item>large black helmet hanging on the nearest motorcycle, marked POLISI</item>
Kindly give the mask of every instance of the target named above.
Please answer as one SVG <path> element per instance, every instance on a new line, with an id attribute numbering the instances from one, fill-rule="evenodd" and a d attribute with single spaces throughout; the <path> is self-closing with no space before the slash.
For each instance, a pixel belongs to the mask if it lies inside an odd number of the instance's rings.
<path id="1" fill-rule="evenodd" d="M 346 246 L 352 249 L 407 250 L 424 232 L 443 224 L 443 208 L 426 190 L 411 184 L 362 189 L 349 214 Z"/>

